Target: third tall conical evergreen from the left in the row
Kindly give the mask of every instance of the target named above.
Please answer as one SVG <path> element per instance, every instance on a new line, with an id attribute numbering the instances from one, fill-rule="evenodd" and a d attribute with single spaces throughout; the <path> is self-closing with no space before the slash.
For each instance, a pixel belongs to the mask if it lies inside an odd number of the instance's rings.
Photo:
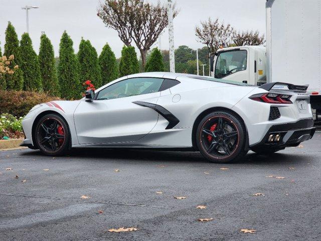
<path id="1" fill-rule="evenodd" d="M 52 96 L 60 96 L 54 47 L 46 34 L 40 37 L 39 64 L 44 92 Z"/>

